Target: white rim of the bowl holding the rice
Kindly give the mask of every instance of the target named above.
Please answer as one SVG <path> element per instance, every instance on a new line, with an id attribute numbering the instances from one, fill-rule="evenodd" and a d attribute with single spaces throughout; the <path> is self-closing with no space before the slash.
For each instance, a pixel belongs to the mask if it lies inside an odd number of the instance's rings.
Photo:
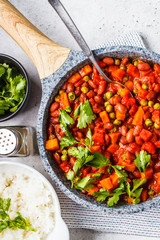
<path id="1" fill-rule="evenodd" d="M 39 171 L 37 171 L 33 167 L 28 166 L 24 163 L 10 162 L 10 161 L 0 161 L 0 167 L 1 166 L 3 167 L 3 165 L 9 166 L 11 168 L 11 171 L 12 171 L 12 166 L 14 166 L 15 168 L 16 167 L 21 168 L 23 170 L 27 169 L 28 172 L 34 173 L 34 177 L 35 177 L 35 175 L 38 176 L 42 180 L 42 182 L 44 182 L 47 185 L 49 191 L 51 192 L 52 198 L 53 198 L 54 215 L 55 215 L 55 226 L 54 226 L 53 231 L 51 233 L 49 233 L 49 235 L 52 234 L 52 233 L 54 234 L 54 231 L 56 231 L 56 233 L 57 233 L 57 229 L 58 229 L 58 231 L 64 230 L 65 233 L 66 233 L 66 238 L 65 239 L 69 240 L 68 227 L 61 217 L 60 202 L 59 202 L 57 193 L 56 193 L 55 189 L 53 188 L 52 184 L 49 182 L 49 180 L 42 173 L 40 173 Z M 0 170 L 0 172 L 1 172 L 1 170 Z M 47 236 L 47 238 L 48 238 L 48 236 Z M 47 240 L 47 238 L 46 238 L 46 240 Z"/>

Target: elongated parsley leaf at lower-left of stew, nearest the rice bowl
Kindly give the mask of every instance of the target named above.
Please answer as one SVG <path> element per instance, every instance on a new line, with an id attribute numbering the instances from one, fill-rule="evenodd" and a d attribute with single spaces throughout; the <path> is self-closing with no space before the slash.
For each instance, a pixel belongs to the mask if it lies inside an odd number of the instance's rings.
<path id="1" fill-rule="evenodd" d="M 93 185 L 91 185 L 91 184 L 95 183 L 95 181 L 97 179 L 99 179 L 100 177 L 101 177 L 101 173 L 95 173 L 95 174 L 93 174 L 92 177 L 87 175 L 84 178 L 79 178 L 77 180 L 77 182 L 74 183 L 74 187 L 79 190 L 82 190 L 82 189 L 88 190 L 89 188 L 93 187 Z"/>

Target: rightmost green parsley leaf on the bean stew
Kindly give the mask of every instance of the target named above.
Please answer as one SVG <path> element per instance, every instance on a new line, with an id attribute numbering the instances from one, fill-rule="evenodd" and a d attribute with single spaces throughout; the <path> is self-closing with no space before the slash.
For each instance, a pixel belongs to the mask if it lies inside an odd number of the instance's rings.
<path id="1" fill-rule="evenodd" d="M 140 154 L 137 154 L 134 163 L 136 164 L 137 168 L 141 173 L 144 173 L 146 168 L 148 167 L 151 160 L 151 155 L 148 154 L 146 151 L 140 151 Z"/>

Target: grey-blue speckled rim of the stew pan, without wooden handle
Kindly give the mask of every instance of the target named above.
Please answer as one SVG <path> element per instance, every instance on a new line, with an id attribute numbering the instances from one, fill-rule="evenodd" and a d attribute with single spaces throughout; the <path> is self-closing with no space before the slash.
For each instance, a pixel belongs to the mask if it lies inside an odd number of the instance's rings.
<path id="1" fill-rule="evenodd" d="M 101 56 L 111 54 L 110 56 L 120 57 L 118 54 L 127 54 L 129 56 L 145 56 L 144 59 L 149 59 L 153 62 L 157 62 L 160 64 L 160 54 L 155 53 L 153 51 L 147 50 L 142 47 L 135 47 L 135 46 L 111 46 L 111 47 L 103 47 L 96 50 L 93 50 L 95 55 Z M 124 57 L 124 56 L 123 56 Z M 74 59 L 74 60 L 73 60 Z M 70 186 L 68 186 L 63 180 L 61 179 L 62 174 L 60 177 L 58 176 L 51 166 L 48 158 L 48 153 L 45 150 L 45 134 L 46 134 L 46 126 L 44 123 L 46 122 L 46 118 L 48 114 L 46 114 L 47 110 L 49 110 L 49 99 L 51 98 L 53 92 L 60 89 L 62 86 L 61 80 L 64 76 L 67 76 L 68 72 L 74 69 L 77 65 L 79 65 L 82 61 L 86 61 L 87 57 L 81 51 L 74 51 L 71 50 L 70 55 L 63 66 L 55 72 L 53 75 L 49 76 L 42 80 L 42 100 L 41 105 L 39 108 L 38 113 L 38 124 L 37 124 L 37 141 L 38 147 L 40 151 L 40 155 L 45 166 L 46 171 L 55 182 L 56 186 L 63 192 L 67 197 L 72 199 L 78 204 L 81 204 L 83 207 L 90 208 L 92 210 L 100 210 L 108 213 L 136 213 L 139 211 L 148 210 L 152 207 L 160 205 L 160 197 L 155 197 L 154 199 L 148 200 L 146 202 L 139 203 L 137 205 L 133 204 L 120 204 L 115 207 L 107 207 L 105 203 L 96 202 L 96 200 L 88 200 L 88 198 L 79 196 L 77 191 L 73 191 Z M 52 83 L 52 85 L 51 85 Z M 61 84 L 61 86 L 60 86 Z M 48 87 L 48 88 L 47 88 Z M 45 91 L 44 91 L 45 90 Z M 48 91 L 47 91 L 48 90 Z"/>

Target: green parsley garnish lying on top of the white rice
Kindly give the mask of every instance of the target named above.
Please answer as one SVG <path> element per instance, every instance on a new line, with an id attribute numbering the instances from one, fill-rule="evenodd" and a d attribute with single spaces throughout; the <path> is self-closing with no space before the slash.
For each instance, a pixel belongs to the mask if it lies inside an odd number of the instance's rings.
<path id="1" fill-rule="evenodd" d="M 10 228 L 12 230 L 19 228 L 27 231 L 37 231 L 31 226 L 29 220 L 27 218 L 23 218 L 19 212 L 17 212 L 17 217 L 11 220 L 8 213 L 10 203 L 10 198 L 6 200 L 0 198 L 0 232 L 7 228 Z"/>

